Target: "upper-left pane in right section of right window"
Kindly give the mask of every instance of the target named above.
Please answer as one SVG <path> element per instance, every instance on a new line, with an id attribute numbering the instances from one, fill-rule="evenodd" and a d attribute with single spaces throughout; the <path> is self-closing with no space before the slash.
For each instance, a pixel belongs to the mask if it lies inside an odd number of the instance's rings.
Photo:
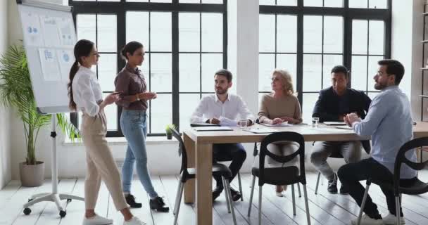
<path id="1" fill-rule="evenodd" d="M 352 20 L 352 53 L 367 54 L 367 20 Z"/>

